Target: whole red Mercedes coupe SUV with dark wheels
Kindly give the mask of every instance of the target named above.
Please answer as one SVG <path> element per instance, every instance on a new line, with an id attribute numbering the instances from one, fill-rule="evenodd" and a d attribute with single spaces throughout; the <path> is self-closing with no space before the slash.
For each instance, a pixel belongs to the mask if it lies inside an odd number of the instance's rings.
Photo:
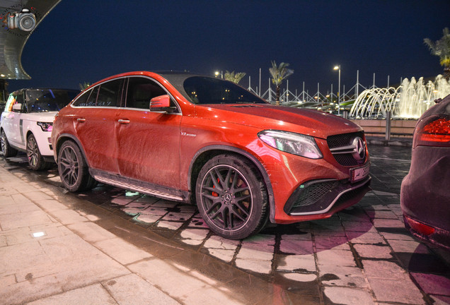
<path id="1" fill-rule="evenodd" d="M 357 203 L 371 179 L 364 132 L 351 121 L 190 73 L 100 80 L 59 112 L 52 143 L 69 191 L 100 181 L 197 203 L 229 239 L 268 221 L 330 217 Z"/>

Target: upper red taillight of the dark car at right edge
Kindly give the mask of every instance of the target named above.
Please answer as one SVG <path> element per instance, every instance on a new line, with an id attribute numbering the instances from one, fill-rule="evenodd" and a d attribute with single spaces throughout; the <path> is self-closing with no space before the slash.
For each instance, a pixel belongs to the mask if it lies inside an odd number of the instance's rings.
<path id="1" fill-rule="evenodd" d="M 441 116 L 430 119 L 425 119 L 417 124 L 413 147 L 417 145 L 450 146 L 449 117 Z"/>

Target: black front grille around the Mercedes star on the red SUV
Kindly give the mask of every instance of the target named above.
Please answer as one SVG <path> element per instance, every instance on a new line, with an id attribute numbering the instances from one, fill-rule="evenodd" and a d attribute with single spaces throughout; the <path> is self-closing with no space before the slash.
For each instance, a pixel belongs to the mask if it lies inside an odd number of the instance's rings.
<path id="1" fill-rule="evenodd" d="M 337 163 L 342 166 L 352 167 L 362 165 L 366 161 L 367 157 L 364 157 L 364 160 L 355 159 L 353 152 L 350 151 L 346 151 L 345 153 L 333 152 L 333 149 L 336 150 L 338 148 L 345 148 L 346 146 L 352 145 L 354 138 L 357 137 L 364 139 L 364 132 L 358 131 L 355 133 L 343 133 L 335 136 L 329 136 L 327 138 L 328 148 L 330 148 Z"/>

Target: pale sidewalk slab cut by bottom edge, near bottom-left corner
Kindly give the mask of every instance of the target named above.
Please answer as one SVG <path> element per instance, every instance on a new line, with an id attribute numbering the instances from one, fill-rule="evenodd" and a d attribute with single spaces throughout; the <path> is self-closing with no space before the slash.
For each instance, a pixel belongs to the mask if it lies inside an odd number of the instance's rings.
<path id="1" fill-rule="evenodd" d="M 100 285 L 91 285 L 79 289 L 74 289 L 69 292 L 57 294 L 51 297 L 46 297 L 37 301 L 32 301 L 28 305 L 96 305 L 96 304 L 120 304 L 117 303 L 113 297 L 108 294 L 105 288 Z"/>

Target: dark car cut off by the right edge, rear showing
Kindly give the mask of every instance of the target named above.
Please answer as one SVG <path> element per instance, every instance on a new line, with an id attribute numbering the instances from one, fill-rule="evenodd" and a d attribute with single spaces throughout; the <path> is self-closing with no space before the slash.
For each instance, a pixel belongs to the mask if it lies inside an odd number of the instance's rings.
<path id="1" fill-rule="evenodd" d="M 450 95 L 435 102 L 415 126 L 400 205 L 412 235 L 450 250 Z"/>

